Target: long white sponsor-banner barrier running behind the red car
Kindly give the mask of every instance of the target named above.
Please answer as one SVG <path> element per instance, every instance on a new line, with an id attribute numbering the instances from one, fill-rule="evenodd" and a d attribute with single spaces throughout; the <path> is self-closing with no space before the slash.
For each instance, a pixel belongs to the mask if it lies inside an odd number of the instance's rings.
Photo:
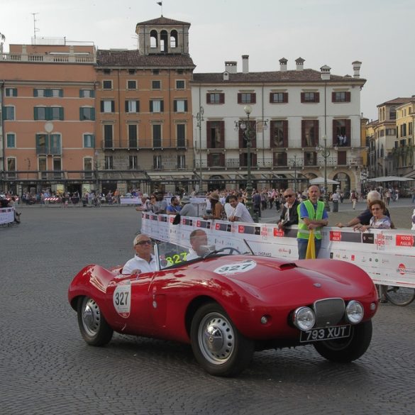
<path id="1" fill-rule="evenodd" d="M 243 248 L 245 239 L 256 255 L 297 260 L 297 226 L 280 231 L 275 223 L 205 221 L 182 217 L 173 225 L 174 216 L 142 214 L 141 232 L 151 238 L 190 247 L 189 235 L 203 229 L 209 244 L 216 249 Z M 415 288 L 415 231 L 409 229 L 370 229 L 361 233 L 353 228 L 322 230 L 319 258 L 353 262 L 367 272 L 375 284 Z"/>

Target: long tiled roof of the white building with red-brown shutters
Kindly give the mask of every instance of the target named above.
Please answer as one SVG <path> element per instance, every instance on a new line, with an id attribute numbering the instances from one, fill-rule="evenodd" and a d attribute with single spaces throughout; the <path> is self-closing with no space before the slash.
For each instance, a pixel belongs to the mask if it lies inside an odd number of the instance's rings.
<path id="1" fill-rule="evenodd" d="M 366 79 L 341 77 L 331 74 L 328 82 L 347 81 L 350 83 L 365 84 Z M 212 83 L 255 83 L 255 82 L 325 82 L 321 79 L 321 72 L 311 69 L 304 70 L 288 70 L 274 72 L 249 72 L 244 74 L 238 72 L 229 74 L 229 80 L 223 80 L 223 72 L 220 73 L 194 73 L 193 82 L 212 82 Z"/>

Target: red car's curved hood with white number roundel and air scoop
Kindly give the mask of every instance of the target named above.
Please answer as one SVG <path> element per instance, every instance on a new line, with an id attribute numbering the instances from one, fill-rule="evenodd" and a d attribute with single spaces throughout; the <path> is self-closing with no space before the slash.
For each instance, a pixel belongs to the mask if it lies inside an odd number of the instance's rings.
<path id="1" fill-rule="evenodd" d="M 232 255 L 199 262 L 198 268 L 215 272 L 267 301 L 282 298 L 308 301 L 310 297 L 370 295 L 373 282 L 356 265 L 338 260 L 298 260 Z"/>

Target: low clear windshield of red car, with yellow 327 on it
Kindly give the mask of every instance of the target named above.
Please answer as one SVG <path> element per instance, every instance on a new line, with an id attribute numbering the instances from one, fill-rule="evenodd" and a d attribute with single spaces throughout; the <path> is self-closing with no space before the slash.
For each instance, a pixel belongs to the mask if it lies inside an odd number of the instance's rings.
<path id="1" fill-rule="evenodd" d="M 215 245 L 202 245 L 200 248 L 203 252 L 202 256 L 198 256 L 191 248 L 185 248 L 175 243 L 160 242 L 155 244 L 155 258 L 157 259 L 157 265 L 159 270 L 165 268 L 184 265 L 185 262 L 197 262 L 204 258 L 209 258 L 214 255 L 240 255 L 248 254 L 253 255 L 248 243 L 245 242 L 245 249 L 242 251 L 232 247 L 216 248 Z"/>

